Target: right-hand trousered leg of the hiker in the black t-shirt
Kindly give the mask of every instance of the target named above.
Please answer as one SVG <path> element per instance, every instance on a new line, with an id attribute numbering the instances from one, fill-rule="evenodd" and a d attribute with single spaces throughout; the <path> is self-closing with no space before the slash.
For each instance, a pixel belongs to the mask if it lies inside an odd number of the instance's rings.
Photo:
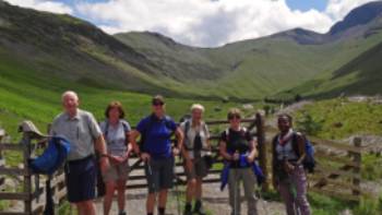
<path id="1" fill-rule="evenodd" d="M 256 179 L 251 168 L 240 169 L 242 183 L 244 188 L 244 195 L 248 204 L 248 215 L 256 215 L 258 207 L 256 202 L 258 199 L 254 194 L 254 186 L 256 184 Z"/>

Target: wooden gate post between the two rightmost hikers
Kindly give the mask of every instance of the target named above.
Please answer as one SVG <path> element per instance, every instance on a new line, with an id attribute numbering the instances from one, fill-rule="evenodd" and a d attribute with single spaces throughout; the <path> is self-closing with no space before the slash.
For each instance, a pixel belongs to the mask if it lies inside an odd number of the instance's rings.
<path id="1" fill-rule="evenodd" d="M 265 129 L 264 129 L 264 117 L 256 112 L 256 136 L 258 136 L 258 145 L 259 145 L 259 162 L 260 162 L 260 168 L 263 171 L 266 180 L 263 183 L 263 191 L 268 190 L 268 182 L 267 182 L 267 169 L 266 169 L 266 145 L 265 145 Z"/>

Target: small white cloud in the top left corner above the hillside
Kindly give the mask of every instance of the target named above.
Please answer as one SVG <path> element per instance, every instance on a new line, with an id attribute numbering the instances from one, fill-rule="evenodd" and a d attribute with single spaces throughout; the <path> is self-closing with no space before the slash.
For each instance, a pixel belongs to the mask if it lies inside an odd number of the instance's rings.
<path id="1" fill-rule="evenodd" d="M 73 10 L 61 2 L 47 0 L 7 0 L 9 3 L 25 8 L 32 8 L 40 11 L 48 11 L 53 13 L 73 13 Z"/>

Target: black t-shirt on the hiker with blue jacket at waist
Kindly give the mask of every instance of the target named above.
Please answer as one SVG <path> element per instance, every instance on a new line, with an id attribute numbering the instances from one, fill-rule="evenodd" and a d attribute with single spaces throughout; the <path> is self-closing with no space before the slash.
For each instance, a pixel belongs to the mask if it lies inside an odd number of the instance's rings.
<path id="1" fill-rule="evenodd" d="M 228 133 L 228 138 L 227 131 L 224 131 L 220 135 L 220 140 L 226 142 L 226 148 L 228 154 L 232 155 L 236 151 L 238 151 L 240 155 L 250 152 L 251 148 L 249 142 L 253 140 L 253 136 L 250 134 L 249 131 L 235 131 L 232 129 L 229 129 Z M 231 167 L 239 168 L 240 163 L 231 162 Z"/>

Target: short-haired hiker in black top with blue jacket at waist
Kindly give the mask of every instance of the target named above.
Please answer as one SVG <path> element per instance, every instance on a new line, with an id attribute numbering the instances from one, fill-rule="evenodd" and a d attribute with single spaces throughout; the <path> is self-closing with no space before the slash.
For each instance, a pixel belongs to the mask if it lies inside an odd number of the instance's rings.
<path id="1" fill-rule="evenodd" d="M 229 165 L 228 190 L 231 215 L 240 215 L 240 188 L 242 181 L 244 196 L 248 203 L 248 215 L 256 215 L 256 198 L 254 195 L 255 176 L 252 164 L 258 155 L 256 143 L 251 134 L 240 126 L 241 112 L 234 108 L 229 110 L 229 128 L 220 136 L 219 151 Z"/>

